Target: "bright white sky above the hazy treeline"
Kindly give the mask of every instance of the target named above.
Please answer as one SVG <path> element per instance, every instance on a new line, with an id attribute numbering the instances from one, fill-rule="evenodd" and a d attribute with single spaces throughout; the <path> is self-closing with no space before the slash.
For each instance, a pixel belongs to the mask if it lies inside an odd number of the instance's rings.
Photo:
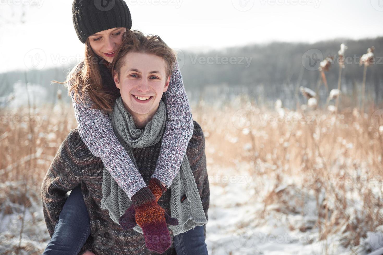
<path id="1" fill-rule="evenodd" d="M 175 49 L 222 49 L 270 41 L 315 42 L 383 35 L 383 0 L 126 3 L 132 15 L 132 29 L 158 34 Z M 22 10 L 23 24 L 19 22 Z M 0 32 L 1 57 L 5 60 L 0 73 L 26 69 L 30 55 L 45 55 L 44 67 L 80 62 L 83 57 L 84 44 L 73 28 L 71 0 L 0 0 Z"/>

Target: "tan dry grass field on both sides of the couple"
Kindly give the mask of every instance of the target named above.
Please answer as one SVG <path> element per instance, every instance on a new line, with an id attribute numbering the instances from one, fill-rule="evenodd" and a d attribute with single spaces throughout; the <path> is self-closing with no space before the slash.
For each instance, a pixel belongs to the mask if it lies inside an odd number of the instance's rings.
<path id="1" fill-rule="evenodd" d="M 285 110 L 280 123 L 275 123 L 272 118 L 280 112 L 256 106 L 247 97 L 237 97 L 223 106 L 200 101 L 192 108 L 193 118 L 205 133 L 209 175 L 235 169 L 231 175 L 246 172 L 255 177 L 249 187 L 255 189 L 254 201 L 261 201 L 264 209 L 254 219 L 266 219 L 273 212 L 301 215 L 302 221 L 291 224 L 291 230 L 317 231 L 320 240 L 336 234 L 351 250 L 361 245 L 367 231 L 383 224 L 383 137 L 370 120 L 373 110 L 363 116 L 347 108 L 337 115 Z M 46 170 L 77 123 L 72 106 L 61 102 L 31 110 L 3 109 L 0 116 L 8 118 L 0 126 L 0 178 L 4 184 L 0 203 L 8 205 L 1 207 L 1 215 L 20 213 L 22 218 L 32 201 L 39 200 Z M 39 119 L 12 123 L 17 122 L 16 116 Z M 292 123 L 288 116 L 318 122 Z M 25 185 L 16 186 L 16 192 L 12 183 Z M 305 218 L 310 202 L 315 205 L 314 220 Z M 17 211 L 15 205 L 25 205 L 24 211 Z M 24 227 L 21 234 L 10 238 L 21 237 Z M 20 241 L 13 251 L 25 251 L 25 247 L 28 245 Z"/>

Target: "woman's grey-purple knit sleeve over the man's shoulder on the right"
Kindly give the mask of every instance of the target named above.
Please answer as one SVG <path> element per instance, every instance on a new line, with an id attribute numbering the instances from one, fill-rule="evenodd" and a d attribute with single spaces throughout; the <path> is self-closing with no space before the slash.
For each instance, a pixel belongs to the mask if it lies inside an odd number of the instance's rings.
<path id="1" fill-rule="evenodd" d="M 193 117 L 177 61 L 170 76 L 169 88 L 164 92 L 162 99 L 166 107 L 166 128 L 151 177 L 160 180 L 169 188 L 180 170 L 188 142 L 193 136 Z"/>

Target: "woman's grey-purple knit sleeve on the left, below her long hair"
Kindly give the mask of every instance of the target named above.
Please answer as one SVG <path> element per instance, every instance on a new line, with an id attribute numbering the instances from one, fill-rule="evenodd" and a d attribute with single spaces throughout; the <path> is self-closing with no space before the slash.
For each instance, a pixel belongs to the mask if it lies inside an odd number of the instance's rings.
<path id="1" fill-rule="evenodd" d="M 88 94 L 84 95 L 84 100 L 78 99 L 79 102 L 74 100 L 73 91 L 70 95 L 81 139 L 93 155 L 101 158 L 113 179 L 131 199 L 134 193 L 146 187 L 146 184 L 119 143 L 108 115 L 100 109 L 92 109 L 92 101 Z"/>

